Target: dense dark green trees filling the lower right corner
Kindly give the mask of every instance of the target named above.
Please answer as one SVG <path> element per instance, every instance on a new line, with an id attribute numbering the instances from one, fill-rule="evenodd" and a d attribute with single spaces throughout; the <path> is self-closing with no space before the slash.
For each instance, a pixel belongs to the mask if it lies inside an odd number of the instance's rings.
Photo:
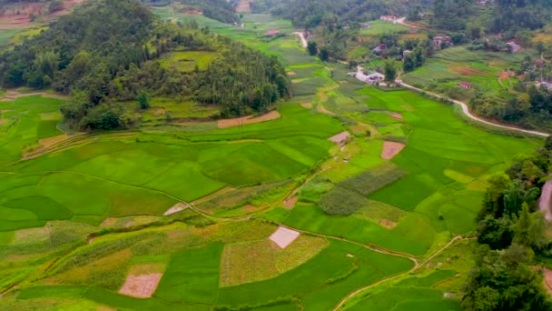
<path id="1" fill-rule="evenodd" d="M 547 144 L 549 145 L 549 144 Z M 552 254 L 544 217 L 535 210 L 540 178 L 550 165 L 549 146 L 517 158 L 506 174 L 489 179 L 479 212 L 476 267 L 468 277 L 467 310 L 548 310 L 552 307 L 534 269 Z"/>

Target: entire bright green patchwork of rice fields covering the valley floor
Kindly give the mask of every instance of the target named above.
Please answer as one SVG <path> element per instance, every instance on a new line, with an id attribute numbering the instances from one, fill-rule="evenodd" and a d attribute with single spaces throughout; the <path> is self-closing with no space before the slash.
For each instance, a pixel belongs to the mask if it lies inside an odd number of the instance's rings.
<path id="1" fill-rule="evenodd" d="M 212 29 L 293 72 L 296 96 L 276 120 L 74 135 L 41 148 L 63 135 L 62 101 L 0 103 L 0 308 L 459 309 L 472 242 L 449 242 L 474 230 L 488 176 L 537 139 L 490 134 L 448 105 L 360 85 L 293 35 L 262 37 L 291 32 L 289 22 L 247 15 L 245 24 Z M 347 145 L 330 142 L 343 131 Z M 385 160 L 386 141 L 406 146 Z M 179 202 L 190 206 L 163 216 Z M 300 238 L 274 246 L 277 225 Z M 162 274 L 152 295 L 119 294 L 137 274 Z"/>

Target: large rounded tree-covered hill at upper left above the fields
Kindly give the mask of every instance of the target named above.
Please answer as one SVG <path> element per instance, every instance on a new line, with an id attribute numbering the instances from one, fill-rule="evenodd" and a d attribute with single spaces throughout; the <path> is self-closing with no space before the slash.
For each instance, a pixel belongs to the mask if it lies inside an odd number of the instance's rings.
<path id="1" fill-rule="evenodd" d="M 213 55 L 211 65 L 179 70 L 192 60 L 166 57 L 187 51 Z M 91 129 L 130 125 L 132 117 L 118 103 L 143 93 L 219 105 L 222 115 L 231 116 L 265 111 L 289 96 L 290 88 L 275 57 L 207 28 L 163 22 L 134 0 L 82 5 L 0 55 L 0 79 L 5 87 L 53 87 L 72 94 L 62 108 L 66 120 Z"/>

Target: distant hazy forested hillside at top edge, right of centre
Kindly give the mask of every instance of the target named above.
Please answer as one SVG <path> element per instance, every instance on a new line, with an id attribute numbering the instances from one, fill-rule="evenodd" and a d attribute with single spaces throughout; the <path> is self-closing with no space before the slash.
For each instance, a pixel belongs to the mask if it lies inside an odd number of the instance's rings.
<path id="1" fill-rule="evenodd" d="M 254 12 L 270 12 L 291 19 L 294 25 L 316 27 L 324 19 L 336 22 L 366 22 L 380 15 L 407 15 L 416 8 L 419 0 L 256 0 Z"/>

